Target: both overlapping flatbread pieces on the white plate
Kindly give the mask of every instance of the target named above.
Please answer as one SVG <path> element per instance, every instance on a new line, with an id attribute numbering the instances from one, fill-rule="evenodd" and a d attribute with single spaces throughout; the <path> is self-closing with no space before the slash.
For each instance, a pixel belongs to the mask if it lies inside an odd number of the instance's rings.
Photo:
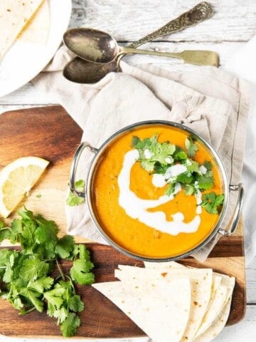
<path id="1" fill-rule="evenodd" d="M 49 23 L 47 0 L 1 0 L 0 59 L 17 38 L 46 43 Z"/>

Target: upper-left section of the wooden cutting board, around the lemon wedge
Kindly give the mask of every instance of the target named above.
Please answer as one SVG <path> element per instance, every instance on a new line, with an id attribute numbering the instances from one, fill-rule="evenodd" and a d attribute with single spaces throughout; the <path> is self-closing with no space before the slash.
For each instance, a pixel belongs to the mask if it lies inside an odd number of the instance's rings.
<path id="1" fill-rule="evenodd" d="M 0 167 L 18 157 L 33 155 L 50 161 L 40 182 L 20 203 L 54 219 L 65 232 L 64 202 L 70 162 L 82 130 L 60 106 L 17 110 L 0 115 Z M 41 198 L 36 197 L 41 195 Z M 17 209 L 18 209 L 17 208 Z M 10 215 L 10 222 L 15 215 Z"/>

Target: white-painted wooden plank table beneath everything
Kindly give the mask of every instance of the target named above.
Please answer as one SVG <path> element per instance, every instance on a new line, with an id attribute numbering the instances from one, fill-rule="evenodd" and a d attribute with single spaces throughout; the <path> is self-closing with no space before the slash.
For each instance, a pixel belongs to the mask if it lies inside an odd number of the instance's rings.
<path id="1" fill-rule="evenodd" d="M 119 43 L 129 43 L 166 24 L 198 2 L 196 0 L 73 0 L 70 27 L 99 28 L 111 33 Z M 160 51 L 209 49 L 220 54 L 221 68 L 225 68 L 230 56 L 256 34 L 256 1 L 210 0 L 210 4 L 215 9 L 212 19 L 161 38 L 159 41 L 147 43 L 144 48 L 159 48 Z M 183 65 L 175 60 L 149 56 L 127 56 L 124 60 L 134 66 L 153 63 L 173 71 L 188 71 L 197 68 Z M 31 83 L 28 83 L 14 93 L 0 98 L 0 113 L 16 108 L 49 104 L 48 99 Z M 256 341 L 256 262 L 246 271 L 247 311 L 245 318 L 237 325 L 225 328 L 220 336 L 215 338 L 215 342 Z M 0 341 L 26 342 L 31 340 L 0 336 Z M 44 340 L 34 338 L 33 341 Z M 72 338 L 72 341 L 78 341 L 78 339 Z M 96 342 L 96 340 L 93 341 Z M 144 341 L 144 339 L 138 341 Z"/>

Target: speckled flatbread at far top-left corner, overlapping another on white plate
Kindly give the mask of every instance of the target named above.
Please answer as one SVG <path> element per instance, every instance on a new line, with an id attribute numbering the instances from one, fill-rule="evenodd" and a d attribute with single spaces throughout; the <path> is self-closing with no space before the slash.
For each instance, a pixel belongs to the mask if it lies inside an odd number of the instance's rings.
<path id="1" fill-rule="evenodd" d="M 0 1 L 0 59 L 46 0 Z"/>

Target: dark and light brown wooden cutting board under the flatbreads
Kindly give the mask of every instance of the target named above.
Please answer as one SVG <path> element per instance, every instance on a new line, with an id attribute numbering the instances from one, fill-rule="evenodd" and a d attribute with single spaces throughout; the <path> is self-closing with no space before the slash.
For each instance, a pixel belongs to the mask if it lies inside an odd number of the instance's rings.
<path id="1" fill-rule="evenodd" d="M 54 219 L 65 234 L 65 195 L 68 187 L 70 163 L 82 136 L 82 130 L 60 106 L 16 110 L 0 115 L 0 169 L 18 157 L 34 155 L 50 161 L 50 166 L 30 196 L 21 203 L 46 219 Z M 37 195 L 41 195 L 40 198 Z M 6 219 L 9 223 L 15 215 Z M 85 242 L 76 237 L 76 242 Z M 110 246 L 87 243 L 95 264 L 95 281 L 113 281 L 118 264 L 142 266 L 142 262 L 120 254 Z M 207 261 L 198 263 L 192 258 L 183 264 L 210 267 L 220 273 L 236 277 L 233 303 L 228 325 L 238 323 L 245 314 L 245 264 L 243 233 L 240 223 L 233 237 L 221 238 Z M 63 262 L 63 269 L 70 267 Z M 144 336 L 143 331 L 112 302 L 92 288 L 78 286 L 85 302 L 80 314 L 81 326 L 77 336 L 107 338 Z M 0 299 L 0 333 L 6 336 L 60 336 L 55 319 L 33 312 L 18 316 L 11 305 Z"/>

